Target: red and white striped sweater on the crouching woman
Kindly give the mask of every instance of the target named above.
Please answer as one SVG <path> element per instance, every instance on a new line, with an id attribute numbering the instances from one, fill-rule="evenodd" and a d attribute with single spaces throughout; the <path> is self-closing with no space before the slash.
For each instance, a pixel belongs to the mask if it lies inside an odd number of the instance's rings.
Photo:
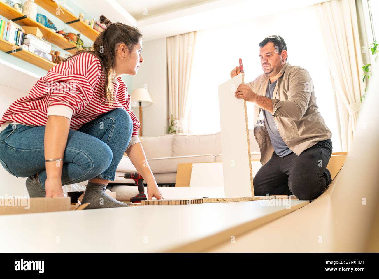
<path id="1" fill-rule="evenodd" d="M 0 120 L 1 130 L 9 123 L 45 126 L 49 115 L 66 116 L 70 129 L 82 125 L 116 108 L 124 108 L 133 121 L 132 144 L 138 139 L 139 120 L 130 107 L 130 95 L 121 76 L 113 79 L 115 99 L 111 105 L 102 103 L 105 75 L 99 58 L 91 53 L 80 53 L 70 60 L 52 67 L 38 79 L 28 96 L 14 101 Z"/>

